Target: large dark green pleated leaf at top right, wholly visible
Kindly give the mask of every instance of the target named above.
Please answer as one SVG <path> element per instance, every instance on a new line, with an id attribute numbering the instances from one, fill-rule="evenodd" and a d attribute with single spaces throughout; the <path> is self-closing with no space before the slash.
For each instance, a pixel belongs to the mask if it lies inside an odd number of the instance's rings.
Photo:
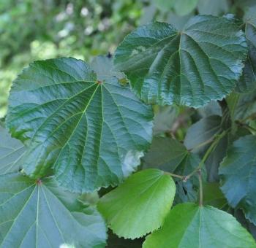
<path id="1" fill-rule="evenodd" d="M 246 53 L 233 20 L 203 15 L 181 32 L 167 23 L 140 26 L 118 46 L 114 62 L 146 103 L 199 107 L 233 90 Z"/>

